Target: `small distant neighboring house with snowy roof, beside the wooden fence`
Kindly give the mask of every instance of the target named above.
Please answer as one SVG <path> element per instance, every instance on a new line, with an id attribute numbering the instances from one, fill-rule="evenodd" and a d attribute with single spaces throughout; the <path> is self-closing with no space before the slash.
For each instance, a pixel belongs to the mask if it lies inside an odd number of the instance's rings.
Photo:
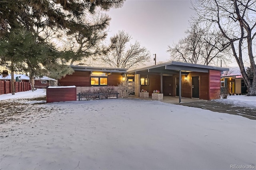
<path id="1" fill-rule="evenodd" d="M 47 86 L 57 86 L 57 80 L 50 77 L 39 77 L 34 79 L 34 87 L 37 89 L 44 89 Z"/>

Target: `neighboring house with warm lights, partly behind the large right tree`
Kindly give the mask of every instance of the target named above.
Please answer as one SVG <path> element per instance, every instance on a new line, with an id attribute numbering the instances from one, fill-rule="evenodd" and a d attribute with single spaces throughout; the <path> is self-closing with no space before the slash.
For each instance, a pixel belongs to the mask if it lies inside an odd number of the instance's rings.
<path id="1" fill-rule="evenodd" d="M 223 75 L 221 76 L 221 88 L 228 88 L 230 94 L 246 94 L 247 87 L 242 75 Z"/>

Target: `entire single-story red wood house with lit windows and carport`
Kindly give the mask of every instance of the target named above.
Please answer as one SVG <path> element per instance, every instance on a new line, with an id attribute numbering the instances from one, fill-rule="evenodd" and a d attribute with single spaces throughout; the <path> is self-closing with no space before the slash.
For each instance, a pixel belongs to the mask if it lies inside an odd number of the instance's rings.
<path id="1" fill-rule="evenodd" d="M 125 68 L 71 65 L 72 75 L 58 80 L 61 86 L 75 85 L 77 93 L 99 86 L 118 86 L 125 79 L 135 82 L 135 95 L 142 89 L 151 95 L 160 90 L 164 96 L 199 99 L 220 98 L 220 75 L 228 68 L 170 61 L 128 71 Z"/>

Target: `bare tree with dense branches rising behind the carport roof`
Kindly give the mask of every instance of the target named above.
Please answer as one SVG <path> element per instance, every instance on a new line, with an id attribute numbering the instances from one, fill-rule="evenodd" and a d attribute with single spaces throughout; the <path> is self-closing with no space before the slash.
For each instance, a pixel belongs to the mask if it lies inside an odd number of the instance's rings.
<path id="1" fill-rule="evenodd" d="M 191 28 L 186 30 L 187 36 L 174 47 L 168 46 L 171 59 L 186 63 L 201 63 L 204 65 L 218 65 L 218 61 L 227 61 L 229 55 L 227 45 L 222 34 L 208 26 L 201 26 L 196 20 L 190 22 Z"/>

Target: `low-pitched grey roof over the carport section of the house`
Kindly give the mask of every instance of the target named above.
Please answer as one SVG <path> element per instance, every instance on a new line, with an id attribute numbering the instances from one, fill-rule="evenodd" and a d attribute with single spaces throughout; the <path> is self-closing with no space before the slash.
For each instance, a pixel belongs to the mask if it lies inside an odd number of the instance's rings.
<path id="1" fill-rule="evenodd" d="M 215 67 L 210 65 L 200 65 L 200 64 L 192 64 L 192 63 L 182 63 L 178 61 L 170 61 L 166 63 L 161 63 L 157 65 L 152 65 L 149 67 L 144 67 L 140 69 L 134 69 L 128 71 L 128 74 L 141 74 L 141 73 L 167 73 L 173 74 L 182 71 L 183 73 L 188 72 L 204 72 L 208 73 L 209 70 L 217 70 L 217 71 L 228 71 L 229 68 L 225 67 Z"/>

